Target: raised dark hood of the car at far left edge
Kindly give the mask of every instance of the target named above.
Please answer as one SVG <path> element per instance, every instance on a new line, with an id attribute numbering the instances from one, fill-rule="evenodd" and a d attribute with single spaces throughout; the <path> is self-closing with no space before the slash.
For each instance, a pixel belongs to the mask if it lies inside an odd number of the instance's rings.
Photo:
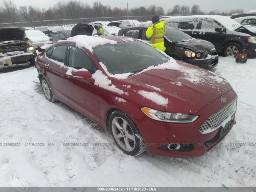
<path id="1" fill-rule="evenodd" d="M 0 42 L 12 41 L 12 40 L 24 41 L 25 28 L 18 28 L 18 27 L 0 28 Z"/>

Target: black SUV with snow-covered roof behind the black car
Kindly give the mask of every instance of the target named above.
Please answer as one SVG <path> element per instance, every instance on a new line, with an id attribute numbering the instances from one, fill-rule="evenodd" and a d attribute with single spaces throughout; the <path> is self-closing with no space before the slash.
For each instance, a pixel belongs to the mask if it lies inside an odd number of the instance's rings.
<path id="1" fill-rule="evenodd" d="M 256 55 L 256 34 L 253 28 L 241 26 L 226 16 L 200 15 L 166 19 L 167 26 L 214 44 L 218 53 L 235 56 L 244 51 Z"/>

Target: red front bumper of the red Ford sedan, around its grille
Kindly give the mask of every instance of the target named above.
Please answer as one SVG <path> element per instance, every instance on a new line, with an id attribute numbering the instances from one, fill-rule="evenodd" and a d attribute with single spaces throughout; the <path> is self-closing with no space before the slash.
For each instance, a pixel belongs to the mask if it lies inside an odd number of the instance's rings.
<path id="1" fill-rule="evenodd" d="M 227 102 L 221 102 L 221 98 L 226 98 Z M 147 117 L 137 123 L 140 129 L 146 150 L 149 154 L 169 156 L 169 157 L 196 157 L 202 156 L 207 151 L 218 144 L 231 130 L 235 121 L 235 112 L 232 115 L 230 129 L 224 134 L 220 134 L 222 126 L 219 126 L 213 132 L 202 134 L 199 130 L 201 125 L 220 109 L 224 108 L 229 102 L 236 98 L 234 90 L 230 90 L 221 98 L 208 104 L 197 115 L 200 117 L 192 124 L 174 124 L 151 120 Z M 168 144 L 182 145 L 180 151 L 170 150 Z"/>

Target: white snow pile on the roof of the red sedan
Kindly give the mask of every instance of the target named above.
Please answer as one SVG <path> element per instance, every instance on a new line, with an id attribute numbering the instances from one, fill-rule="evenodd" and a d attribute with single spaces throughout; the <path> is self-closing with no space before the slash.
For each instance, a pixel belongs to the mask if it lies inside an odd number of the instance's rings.
<path id="1" fill-rule="evenodd" d="M 74 37 L 70 37 L 67 39 L 68 41 L 72 41 L 76 43 L 76 46 L 78 48 L 86 48 L 90 52 L 93 52 L 93 49 L 95 46 L 98 45 L 105 45 L 105 44 L 110 44 L 110 45 L 115 45 L 117 44 L 116 41 L 101 38 L 101 37 L 94 37 L 94 36 L 87 36 L 87 35 L 77 35 Z M 59 41 L 60 42 L 60 41 Z"/>

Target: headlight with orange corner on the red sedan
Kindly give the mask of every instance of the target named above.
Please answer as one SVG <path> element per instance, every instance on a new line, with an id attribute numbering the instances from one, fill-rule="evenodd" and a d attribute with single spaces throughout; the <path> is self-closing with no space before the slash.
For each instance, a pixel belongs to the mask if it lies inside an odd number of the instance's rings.
<path id="1" fill-rule="evenodd" d="M 150 119 L 170 123 L 192 123 L 199 117 L 198 115 L 158 111 L 147 107 L 143 107 L 140 110 Z"/>

